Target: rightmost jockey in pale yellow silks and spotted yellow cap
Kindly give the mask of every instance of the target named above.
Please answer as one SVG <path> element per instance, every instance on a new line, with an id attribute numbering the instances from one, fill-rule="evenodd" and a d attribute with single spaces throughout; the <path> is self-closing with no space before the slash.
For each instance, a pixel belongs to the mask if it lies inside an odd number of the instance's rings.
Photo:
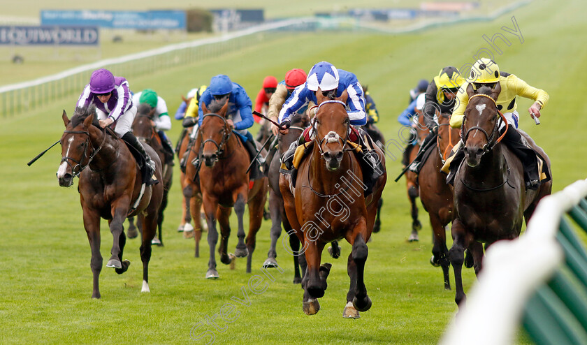
<path id="1" fill-rule="evenodd" d="M 516 77 L 516 75 L 500 72 L 498 64 L 487 58 L 481 58 L 475 62 L 471 69 L 470 78 L 461 87 L 458 93 L 458 103 L 451 117 L 451 127 L 460 128 L 465 117 L 465 108 L 469 103 L 469 96 L 466 92 L 467 87 L 472 84 L 473 89 L 479 89 L 482 86 L 495 87 L 500 83 L 501 92 L 495 103 L 498 110 L 503 112 L 507 119 L 510 129 L 506 132 L 502 142 L 512 150 L 522 162 L 524 168 L 524 181 L 526 189 L 537 189 L 540 185 L 540 172 L 538 171 L 538 162 L 536 153 L 530 147 L 527 147 L 522 139 L 521 134 L 517 131 L 519 115 L 516 111 L 516 96 L 530 98 L 535 102 L 528 108 L 531 117 L 540 117 L 540 110 L 549 101 L 549 94 L 541 89 L 531 87 L 526 82 Z M 514 129 L 514 130 L 512 130 Z M 505 124 L 500 125 L 500 134 L 505 130 Z M 459 163 L 463 160 L 465 154 L 463 146 L 458 149 L 453 161 L 451 162 L 451 172 L 447 177 L 447 182 L 451 183 L 458 169 Z M 549 178 L 549 177 L 547 177 Z"/>

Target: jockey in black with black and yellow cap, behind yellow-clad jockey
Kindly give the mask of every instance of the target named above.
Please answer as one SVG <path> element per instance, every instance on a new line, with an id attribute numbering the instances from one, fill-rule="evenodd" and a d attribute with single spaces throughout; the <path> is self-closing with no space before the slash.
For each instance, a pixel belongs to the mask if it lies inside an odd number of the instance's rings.
<path id="1" fill-rule="evenodd" d="M 434 121 L 435 114 L 438 112 L 450 113 L 454 108 L 458 88 L 465 82 L 461 73 L 453 66 L 447 66 L 440 70 L 437 76 L 430 82 L 425 93 L 425 103 L 423 108 L 424 124 L 430 129 L 430 134 L 420 145 L 420 150 L 416 159 L 410 165 L 410 171 L 419 173 L 421 168 L 421 154 L 432 140 L 436 140 L 438 124 Z"/>

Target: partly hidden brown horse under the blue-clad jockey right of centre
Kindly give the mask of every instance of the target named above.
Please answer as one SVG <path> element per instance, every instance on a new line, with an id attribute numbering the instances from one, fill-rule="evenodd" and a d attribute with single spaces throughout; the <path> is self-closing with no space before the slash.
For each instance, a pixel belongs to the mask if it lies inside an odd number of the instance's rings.
<path id="1" fill-rule="evenodd" d="M 430 133 L 428 126 L 426 126 L 426 123 L 424 122 L 424 117 L 421 113 L 421 110 L 416 110 L 416 112 L 418 114 L 418 124 L 416 126 L 417 142 L 415 145 L 412 145 L 411 142 L 408 143 L 406 149 L 410 151 L 407 152 L 407 157 L 404 156 L 403 163 L 405 166 L 409 166 L 410 163 L 416 159 L 421 143 L 424 141 L 424 139 L 426 139 L 428 133 Z M 419 241 L 420 238 L 418 236 L 418 231 L 421 230 L 422 223 L 420 223 L 420 220 L 418 219 L 418 205 L 416 203 L 416 198 L 420 196 L 418 189 L 418 174 L 416 174 L 416 172 L 410 170 L 405 172 L 405 186 L 407 189 L 407 198 L 410 199 L 410 214 L 412 214 L 412 233 L 410 233 L 408 241 Z"/>

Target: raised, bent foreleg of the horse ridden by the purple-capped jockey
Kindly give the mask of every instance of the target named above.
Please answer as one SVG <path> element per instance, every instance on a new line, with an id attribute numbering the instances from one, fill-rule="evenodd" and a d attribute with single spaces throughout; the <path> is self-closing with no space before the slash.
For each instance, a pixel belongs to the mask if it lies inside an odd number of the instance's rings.
<path id="1" fill-rule="evenodd" d="M 126 219 L 126 214 L 129 211 L 129 198 L 119 198 L 112 204 L 113 218 L 109 221 L 110 233 L 112 233 L 113 244 L 110 250 L 110 259 L 106 263 L 106 267 L 114 267 L 118 274 L 126 272 L 129 267 L 129 261 L 122 263 L 122 251 L 124 244 L 126 244 L 126 235 L 124 235 L 124 227 L 122 223 Z"/>

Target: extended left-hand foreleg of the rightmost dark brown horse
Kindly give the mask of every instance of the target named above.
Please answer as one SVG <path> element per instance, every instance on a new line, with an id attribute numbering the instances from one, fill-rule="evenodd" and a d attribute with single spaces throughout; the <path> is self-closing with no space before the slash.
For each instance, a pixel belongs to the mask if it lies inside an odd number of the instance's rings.
<path id="1" fill-rule="evenodd" d="M 452 223 L 451 233 L 453 245 L 449 250 L 449 260 L 454 270 L 454 284 L 456 286 L 456 295 L 454 301 L 459 308 L 464 305 L 466 300 L 465 291 L 463 291 L 463 278 L 461 270 L 465 261 L 465 249 L 467 249 L 472 236 L 467 233 L 465 225 L 461 219 L 455 219 Z"/>

